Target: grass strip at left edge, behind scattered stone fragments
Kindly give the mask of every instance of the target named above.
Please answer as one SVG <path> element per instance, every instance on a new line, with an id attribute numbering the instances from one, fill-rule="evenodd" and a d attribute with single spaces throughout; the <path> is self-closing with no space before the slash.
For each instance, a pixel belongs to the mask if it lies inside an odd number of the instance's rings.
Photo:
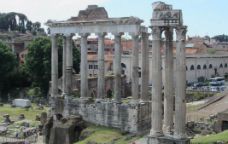
<path id="1" fill-rule="evenodd" d="M 38 110 L 37 106 L 32 105 L 32 108 L 13 108 L 8 104 L 5 104 L 3 107 L 0 107 L 0 122 L 3 121 L 3 115 L 9 114 L 11 120 L 17 120 L 20 114 L 24 114 L 27 120 L 35 120 L 36 115 L 40 114 L 43 111 L 47 111 L 47 108 L 44 110 Z"/>

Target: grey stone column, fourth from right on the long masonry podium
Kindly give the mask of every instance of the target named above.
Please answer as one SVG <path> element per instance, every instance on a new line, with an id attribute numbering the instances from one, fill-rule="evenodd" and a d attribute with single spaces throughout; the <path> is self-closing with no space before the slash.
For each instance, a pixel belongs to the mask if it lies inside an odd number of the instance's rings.
<path id="1" fill-rule="evenodd" d="M 106 33 L 98 35 L 98 81 L 97 81 L 97 99 L 105 97 L 105 58 L 104 58 L 104 37 Z"/>

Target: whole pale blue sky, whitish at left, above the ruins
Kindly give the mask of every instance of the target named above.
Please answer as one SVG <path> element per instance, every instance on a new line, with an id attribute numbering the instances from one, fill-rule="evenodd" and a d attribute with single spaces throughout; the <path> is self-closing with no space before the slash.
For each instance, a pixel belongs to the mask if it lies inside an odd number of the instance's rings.
<path id="1" fill-rule="evenodd" d="M 227 0 L 163 0 L 182 9 L 189 36 L 228 35 Z M 32 21 L 65 20 L 89 4 L 104 6 L 110 17 L 137 16 L 150 25 L 155 0 L 0 0 L 0 12 L 21 12 Z"/>

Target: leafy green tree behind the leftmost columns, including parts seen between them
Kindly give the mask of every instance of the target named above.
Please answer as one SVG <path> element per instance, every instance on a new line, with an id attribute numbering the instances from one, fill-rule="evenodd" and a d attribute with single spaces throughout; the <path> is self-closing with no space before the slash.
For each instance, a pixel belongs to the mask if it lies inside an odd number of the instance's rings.
<path id="1" fill-rule="evenodd" d="M 62 75 L 62 39 L 57 38 L 59 51 L 59 76 Z M 73 68 L 79 72 L 80 53 L 73 48 Z M 45 96 L 51 80 L 51 41 L 48 37 L 39 37 L 28 46 L 28 54 L 25 58 L 25 67 L 31 77 L 32 86 L 39 87 Z"/>

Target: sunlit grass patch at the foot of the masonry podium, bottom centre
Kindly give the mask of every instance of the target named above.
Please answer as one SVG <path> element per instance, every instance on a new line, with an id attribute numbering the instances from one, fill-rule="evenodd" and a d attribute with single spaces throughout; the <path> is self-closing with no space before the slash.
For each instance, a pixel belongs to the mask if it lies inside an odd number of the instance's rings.
<path id="1" fill-rule="evenodd" d="M 140 137 L 132 136 L 128 134 L 122 134 L 119 130 L 101 127 L 101 126 L 89 126 L 83 130 L 82 135 L 88 135 L 82 141 L 75 144 L 129 144 L 132 141 L 139 139 Z"/>

